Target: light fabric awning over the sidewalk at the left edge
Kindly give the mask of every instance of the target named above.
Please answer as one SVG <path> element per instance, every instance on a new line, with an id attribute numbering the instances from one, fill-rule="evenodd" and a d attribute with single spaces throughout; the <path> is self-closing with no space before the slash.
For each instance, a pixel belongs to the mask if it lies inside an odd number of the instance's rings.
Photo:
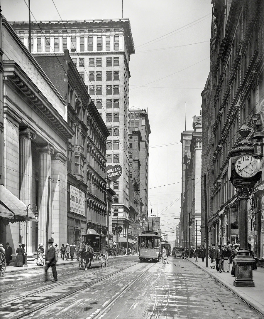
<path id="1" fill-rule="evenodd" d="M 12 223 L 26 221 L 26 205 L 21 202 L 3 185 L 0 185 L 0 217 L 9 219 Z M 27 220 L 36 220 L 31 210 Z"/>

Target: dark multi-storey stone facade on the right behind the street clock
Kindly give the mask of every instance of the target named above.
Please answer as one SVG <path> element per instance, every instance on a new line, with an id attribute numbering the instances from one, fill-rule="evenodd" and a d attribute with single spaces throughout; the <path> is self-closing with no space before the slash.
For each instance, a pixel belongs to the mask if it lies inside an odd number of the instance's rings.
<path id="1" fill-rule="evenodd" d="M 202 93 L 203 151 L 207 175 L 209 244 L 239 241 L 239 202 L 228 181 L 230 151 L 246 123 L 255 130 L 255 113 L 264 97 L 263 5 L 258 1 L 214 1 L 210 39 L 210 74 Z M 210 119 L 210 120 L 209 120 Z M 206 154 L 212 158 L 206 159 Z M 205 161 L 205 162 L 204 162 Z M 262 177 L 263 179 L 263 177 Z M 262 180 L 248 201 L 248 242 L 259 263 L 264 262 Z"/>

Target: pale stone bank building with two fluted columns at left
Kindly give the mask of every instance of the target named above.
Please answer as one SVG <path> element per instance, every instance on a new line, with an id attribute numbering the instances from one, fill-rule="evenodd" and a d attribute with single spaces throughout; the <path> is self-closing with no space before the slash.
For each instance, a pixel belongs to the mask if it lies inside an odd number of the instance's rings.
<path id="1" fill-rule="evenodd" d="M 27 228 L 28 256 L 33 256 L 39 243 L 45 247 L 46 232 L 55 242 L 67 240 L 67 147 L 74 131 L 67 123 L 67 105 L 61 94 L 2 16 L 1 29 L 1 185 L 26 206 L 37 205 L 38 222 L 30 221 Z M 25 224 L 0 220 L 1 241 L 8 241 L 13 251 L 19 242 L 26 242 Z"/>

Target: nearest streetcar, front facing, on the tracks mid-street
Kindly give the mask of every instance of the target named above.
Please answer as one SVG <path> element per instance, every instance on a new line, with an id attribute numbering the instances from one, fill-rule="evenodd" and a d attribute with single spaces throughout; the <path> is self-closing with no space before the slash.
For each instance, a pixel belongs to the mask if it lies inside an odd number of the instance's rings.
<path id="1" fill-rule="evenodd" d="M 155 231 L 143 231 L 138 236 L 139 260 L 155 261 L 161 259 L 161 236 Z"/>

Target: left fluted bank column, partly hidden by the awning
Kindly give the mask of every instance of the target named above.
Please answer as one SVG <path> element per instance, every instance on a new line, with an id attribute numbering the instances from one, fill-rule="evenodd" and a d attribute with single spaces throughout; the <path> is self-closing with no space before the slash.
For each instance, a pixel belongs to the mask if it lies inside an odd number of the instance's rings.
<path id="1" fill-rule="evenodd" d="M 27 206 L 32 203 L 32 152 L 31 141 L 35 132 L 29 127 L 19 131 L 19 193 L 20 200 Z M 26 243 L 26 222 L 21 222 L 22 242 Z M 32 247 L 32 222 L 27 229 L 28 260 L 34 260 Z"/>

